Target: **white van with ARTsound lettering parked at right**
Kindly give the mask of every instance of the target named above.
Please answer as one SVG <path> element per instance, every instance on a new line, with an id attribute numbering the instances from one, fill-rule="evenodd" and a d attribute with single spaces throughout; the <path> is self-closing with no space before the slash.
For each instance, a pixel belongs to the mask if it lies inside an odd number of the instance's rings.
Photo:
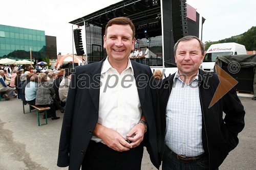
<path id="1" fill-rule="evenodd" d="M 204 60 L 200 65 L 200 69 L 214 72 L 214 65 L 217 56 L 240 54 L 247 54 L 244 45 L 235 42 L 212 44 L 204 55 Z"/>

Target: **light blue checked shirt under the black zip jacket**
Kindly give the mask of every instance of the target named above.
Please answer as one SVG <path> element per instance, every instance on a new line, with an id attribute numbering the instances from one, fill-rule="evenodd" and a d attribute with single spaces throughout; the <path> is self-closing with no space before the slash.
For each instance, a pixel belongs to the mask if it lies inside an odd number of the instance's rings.
<path id="1" fill-rule="evenodd" d="M 178 71 L 175 74 L 166 106 L 165 144 L 179 155 L 204 153 L 198 74 L 188 85 L 180 79 Z"/>

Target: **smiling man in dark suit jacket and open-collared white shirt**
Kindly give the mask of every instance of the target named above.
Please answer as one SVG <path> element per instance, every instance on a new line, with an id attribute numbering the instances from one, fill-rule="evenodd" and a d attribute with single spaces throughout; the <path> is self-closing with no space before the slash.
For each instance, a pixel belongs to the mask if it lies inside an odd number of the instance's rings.
<path id="1" fill-rule="evenodd" d="M 75 68 L 63 117 L 58 166 L 140 169 L 145 145 L 152 163 L 159 168 L 153 108 L 155 90 L 151 88 L 154 78 L 150 67 L 129 60 L 134 50 L 134 35 L 135 28 L 129 18 L 110 20 L 104 35 L 108 57 Z M 124 86 L 129 75 L 131 86 Z M 111 76 L 122 80 L 109 85 Z"/>

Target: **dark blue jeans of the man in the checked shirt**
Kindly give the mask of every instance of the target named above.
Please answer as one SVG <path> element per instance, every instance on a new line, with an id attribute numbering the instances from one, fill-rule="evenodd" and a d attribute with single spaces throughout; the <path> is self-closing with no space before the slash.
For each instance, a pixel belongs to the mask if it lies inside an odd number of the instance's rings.
<path id="1" fill-rule="evenodd" d="M 209 161 L 205 156 L 202 160 L 197 162 L 186 163 L 178 160 L 177 157 L 172 155 L 173 151 L 170 150 L 166 145 L 164 147 L 162 170 L 204 170 L 209 169 Z M 216 170 L 218 170 L 217 168 Z"/>

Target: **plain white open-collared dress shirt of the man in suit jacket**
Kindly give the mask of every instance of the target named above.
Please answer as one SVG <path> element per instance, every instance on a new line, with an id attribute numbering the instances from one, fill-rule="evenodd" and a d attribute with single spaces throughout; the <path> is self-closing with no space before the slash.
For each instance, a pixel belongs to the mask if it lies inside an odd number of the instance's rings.
<path id="1" fill-rule="evenodd" d="M 130 59 L 119 75 L 107 57 L 102 65 L 100 82 L 98 123 L 117 131 L 126 139 L 126 134 L 137 125 L 142 115 Z M 92 140 L 104 143 L 96 136 Z"/>

